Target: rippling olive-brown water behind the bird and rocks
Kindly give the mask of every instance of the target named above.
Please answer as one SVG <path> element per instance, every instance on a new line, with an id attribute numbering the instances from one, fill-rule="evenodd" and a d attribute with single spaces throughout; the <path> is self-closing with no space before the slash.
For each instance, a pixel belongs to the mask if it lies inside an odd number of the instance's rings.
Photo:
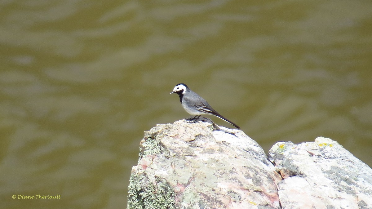
<path id="1" fill-rule="evenodd" d="M 181 82 L 265 152 L 324 136 L 371 166 L 371 11 L 367 0 L 0 1 L 1 207 L 125 208 L 143 131 L 189 116 L 169 95 Z M 18 199 L 37 194 L 61 198 Z"/>

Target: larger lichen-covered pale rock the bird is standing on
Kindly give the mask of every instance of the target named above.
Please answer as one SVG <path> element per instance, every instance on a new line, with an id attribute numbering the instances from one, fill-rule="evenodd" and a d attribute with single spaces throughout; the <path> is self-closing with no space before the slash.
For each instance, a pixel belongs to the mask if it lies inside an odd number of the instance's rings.
<path id="1" fill-rule="evenodd" d="M 145 131 L 128 209 L 280 208 L 282 178 L 263 149 L 243 131 L 206 121 Z"/>

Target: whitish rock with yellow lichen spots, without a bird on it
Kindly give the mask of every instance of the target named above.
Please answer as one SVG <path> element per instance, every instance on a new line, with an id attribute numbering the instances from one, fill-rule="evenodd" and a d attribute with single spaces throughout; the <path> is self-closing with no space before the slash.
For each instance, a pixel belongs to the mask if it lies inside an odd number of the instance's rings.
<path id="1" fill-rule="evenodd" d="M 269 160 L 283 179 L 283 209 L 372 208 L 372 170 L 332 139 L 298 145 L 278 142 Z"/>

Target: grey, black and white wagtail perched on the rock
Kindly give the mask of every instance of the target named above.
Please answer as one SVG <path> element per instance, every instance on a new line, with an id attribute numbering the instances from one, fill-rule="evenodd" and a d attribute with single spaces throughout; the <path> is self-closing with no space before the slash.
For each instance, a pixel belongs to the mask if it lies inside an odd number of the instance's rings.
<path id="1" fill-rule="evenodd" d="M 235 123 L 220 115 L 208 104 L 207 101 L 205 101 L 205 99 L 203 99 L 197 93 L 193 92 L 186 84 L 177 84 L 170 94 L 173 93 L 177 93 L 180 96 L 180 101 L 183 109 L 185 109 L 186 112 L 188 112 L 190 115 L 195 115 L 195 117 L 190 120 L 195 119 L 195 122 L 201 115 L 215 115 L 218 118 L 221 118 L 222 120 L 225 120 L 226 122 L 235 126 L 236 128 L 240 128 Z"/>

